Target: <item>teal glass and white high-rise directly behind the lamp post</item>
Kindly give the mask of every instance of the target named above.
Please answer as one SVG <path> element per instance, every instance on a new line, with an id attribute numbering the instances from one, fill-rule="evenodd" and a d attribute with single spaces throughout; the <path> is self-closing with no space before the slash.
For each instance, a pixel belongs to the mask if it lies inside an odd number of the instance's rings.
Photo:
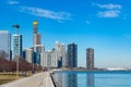
<path id="1" fill-rule="evenodd" d="M 17 55 L 22 57 L 22 35 L 13 35 L 13 60 L 17 59 Z"/>

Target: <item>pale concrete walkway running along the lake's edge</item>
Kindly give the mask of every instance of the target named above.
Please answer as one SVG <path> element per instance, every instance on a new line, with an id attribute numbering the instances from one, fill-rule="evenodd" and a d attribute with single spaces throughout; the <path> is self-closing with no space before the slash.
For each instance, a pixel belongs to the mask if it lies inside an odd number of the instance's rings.
<path id="1" fill-rule="evenodd" d="M 0 87 L 55 87 L 48 72 L 39 73 L 31 77 L 21 78 Z"/>

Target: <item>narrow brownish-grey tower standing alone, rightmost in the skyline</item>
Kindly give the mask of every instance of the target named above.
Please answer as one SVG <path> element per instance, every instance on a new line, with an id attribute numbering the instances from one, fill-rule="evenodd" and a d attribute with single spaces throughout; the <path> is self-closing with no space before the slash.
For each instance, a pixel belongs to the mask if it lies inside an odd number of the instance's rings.
<path id="1" fill-rule="evenodd" d="M 94 70 L 94 49 L 86 49 L 86 69 Z"/>

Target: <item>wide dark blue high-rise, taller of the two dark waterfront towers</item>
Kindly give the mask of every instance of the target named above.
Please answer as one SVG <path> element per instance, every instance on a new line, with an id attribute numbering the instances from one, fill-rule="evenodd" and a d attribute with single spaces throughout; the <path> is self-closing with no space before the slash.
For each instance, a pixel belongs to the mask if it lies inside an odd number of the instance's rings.
<path id="1" fill-rule="evenodd" d="M 68 45 L 68 66 L 78 67 L 78 45 Z"/>

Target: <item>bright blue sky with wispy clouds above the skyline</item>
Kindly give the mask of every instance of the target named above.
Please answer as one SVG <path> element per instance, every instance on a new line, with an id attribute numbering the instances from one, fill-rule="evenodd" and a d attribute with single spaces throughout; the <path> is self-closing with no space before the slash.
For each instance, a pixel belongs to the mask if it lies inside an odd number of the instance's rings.
<path id="1" fill-rule="evenodd" d="M 0 29 L 15 34 L 20 24 L 24 48 L 33 46 L 35 20 L 46 49 L 78 44 L 79 65 L 92 47 L 95 66 L 131 67 L 131 0 L 0 0 Z"/>

